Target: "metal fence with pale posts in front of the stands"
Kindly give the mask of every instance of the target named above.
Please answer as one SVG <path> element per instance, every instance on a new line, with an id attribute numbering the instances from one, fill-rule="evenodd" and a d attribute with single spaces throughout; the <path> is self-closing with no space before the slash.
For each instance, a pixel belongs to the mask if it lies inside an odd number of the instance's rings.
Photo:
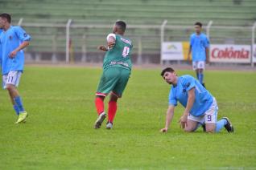
<path id="1" fill-rule="evenodd" d="M 97 45 L 105 44 L 105 37 L 113 27 L 112 23 L 89 25 L 72 19 L 66 23 L 24 21 L 20 18 L 18 25 L 32 35 L 33 41 L 26 50 L 26 58 L 32 62 L 100 62 L 103 54 L 97 51 Z M 209 21 L 204 32 L 211 43 L 251 44 L 253 47 L 255 28 L 256 22 L 253 26 L 215 26 Z M 193 26 L 173 26 L 165 20 L 161 25 L 128 25 L 126 36 L 134 42 L 134 63 L 161 63 L 162 42 L 188 42 L 193 32 Z"/>

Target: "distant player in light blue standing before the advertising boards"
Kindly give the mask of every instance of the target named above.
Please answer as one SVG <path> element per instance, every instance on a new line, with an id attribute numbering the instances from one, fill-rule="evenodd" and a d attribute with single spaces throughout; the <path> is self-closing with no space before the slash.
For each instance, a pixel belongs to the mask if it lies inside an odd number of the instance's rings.
<path id="1" fill-rule="evenodd" d="M 205 62 L 209 63 L 209 39 L 203 33 L 202 24 L 195 23 L 196 33 L 190 36 L 190 46 L 188 50 L 188 59 L 192 51 L 192 67 L 196 71 L 196 77 L 199 82 L 204 86 L 204 68 Z"/>

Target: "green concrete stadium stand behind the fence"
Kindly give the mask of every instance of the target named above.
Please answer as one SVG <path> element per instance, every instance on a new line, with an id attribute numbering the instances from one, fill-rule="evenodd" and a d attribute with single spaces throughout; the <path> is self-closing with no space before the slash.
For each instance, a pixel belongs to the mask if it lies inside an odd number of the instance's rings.
<path id="1" fill-rule="evenodd" d="M 134 55 L 138 55 L 138 44 L 141 42 L 144 58 L 159 55 L 160 32 L 150 26 L 160 26 L 164 19 L 168 21 L 167 26 L 191 26 L 185 30 L 167 29 L 165 38 L 173 41 L 188 41 L 196 21 L 203 22 L 204 26 L 210 20 L 217 26 L 252 26 L 256 21 L 255 0 L 2 0 L 0 6 L 1 12 L 12 14 L 14 25 L 19 18 L 23 18 L 23 23 L 65 25 L 71 18 L 72 24 L 109 25 L 105 28 L 71 28 L 72 51 L 76 60 L 81 59 L 83 48 L 87 55 L 98 55 L 101 59 L 102 54 L 97 53 L 96 47 L 104 43 L 111 25 L 118 19 L 128 23 L 126 34 L 134 40 Z M 129 25 L 150 26 L 146 29 L 129 29 Z M 41 59 L 54 51 L 59 54 L 58 59 L 64 59 L 64 27 L 24 28 L 33 37 L 27 51 L 31 54 L 42 53 Z M 250 41 L 250 33 L 242 30 L 213 30 L 211 34 L 216 42 Z M 155 58 L 149 61 L 159 62 Z"/>

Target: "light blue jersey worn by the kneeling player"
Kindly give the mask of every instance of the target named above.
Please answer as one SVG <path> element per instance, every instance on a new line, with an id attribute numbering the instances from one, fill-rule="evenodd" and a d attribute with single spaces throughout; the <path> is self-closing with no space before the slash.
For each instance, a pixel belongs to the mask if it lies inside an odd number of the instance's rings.
<path id="1" fill-rule="evenodd" d="M 178 78 L 176 86 L 171 87 L 169 94 L 169 105 L 177 106 L 179 101 L 184 107 L 188 103 L 188 91 L 195 87 L 195 102 L 190 112 L 191 115 L 200 116 L 209 109 L 213 103 L 213 95 L 209 93 L 191 75 L 183 75 Z"/>

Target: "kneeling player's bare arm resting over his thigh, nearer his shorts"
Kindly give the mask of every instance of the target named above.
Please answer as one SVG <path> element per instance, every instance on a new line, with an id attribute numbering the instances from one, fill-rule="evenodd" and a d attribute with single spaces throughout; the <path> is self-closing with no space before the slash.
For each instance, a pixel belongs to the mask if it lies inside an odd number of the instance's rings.
<path id="1" fill-rule="evenodd" d="M 180 127 L 184 128 L 187 124 L 189 111 L 192 109 L 195 102 L 195 87 L 192 87 L 188 91 L 188 102 L 187 107 L 184 110 L 184 114 L 180 117 Z"/>

